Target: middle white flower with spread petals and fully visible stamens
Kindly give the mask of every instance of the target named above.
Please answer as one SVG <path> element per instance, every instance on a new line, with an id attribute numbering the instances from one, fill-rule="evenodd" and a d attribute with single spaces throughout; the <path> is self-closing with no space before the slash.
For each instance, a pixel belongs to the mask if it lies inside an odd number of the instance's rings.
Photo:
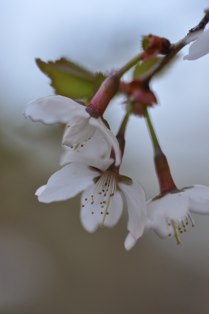
<path id="1" fill-rule="evenodd" d="M 122 193 L 129 217 L 127 229 L 137 240 L 146 224 L 145 192 L 137 181 L 127 177 L 123 181 L 123 178 L 110 170 L 99 172 L 87 165 L 71 163 L 54 173 L 48 183 L 36 191 L 36 195 L 40 202 L 51 203 L 72 198 L 84 190 L 80 218 L 83 227 L 94 232 L 99 225 L 116 225 L 122 214 Z"/>

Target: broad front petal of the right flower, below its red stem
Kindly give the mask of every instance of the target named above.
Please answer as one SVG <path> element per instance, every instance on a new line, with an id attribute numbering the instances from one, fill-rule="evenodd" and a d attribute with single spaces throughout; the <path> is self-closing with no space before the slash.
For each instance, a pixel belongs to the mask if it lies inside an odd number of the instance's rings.
<path id="1" fill-rule="evenodd" d="M 189 211 L 189 195 L 186 192 L 168 193 L 161 198 L 147 201 L 147 217 L 154 221 L 156 216 L 178 221 Z"/>

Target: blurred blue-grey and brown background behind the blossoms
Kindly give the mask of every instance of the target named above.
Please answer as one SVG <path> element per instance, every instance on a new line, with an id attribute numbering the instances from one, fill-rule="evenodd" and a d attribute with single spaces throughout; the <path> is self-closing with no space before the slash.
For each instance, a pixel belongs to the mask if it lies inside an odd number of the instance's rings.
<path id="1" fill-rule="evenodd" d="M 111 71 L 138 53 L 141 35 L 183 38 L 208 2 L 188 0 L 8 0 L 0 4 L 0 313 L 208 313 L 209 217 L 175 238 L 145 232 L 126 252 L 127 213 L 94 234 L 79 221 L 80 195 L 43 204 L 34 195 L 59 167 L 63 129 L 24 119 L 25 105 L 53 95 L 34 58 L 66 57 Z M 152 80 L 150 111 L 176 185 L 209 186 L 209 55 Z M 129 75 L 129 74 L 128 74 Z M 126 78 L 128 79 L 128 75 Z M 121 98 L 105 112 L 113 132 Z M 131 117 L 121 174 L 159 193 L 143 119 Z"/>

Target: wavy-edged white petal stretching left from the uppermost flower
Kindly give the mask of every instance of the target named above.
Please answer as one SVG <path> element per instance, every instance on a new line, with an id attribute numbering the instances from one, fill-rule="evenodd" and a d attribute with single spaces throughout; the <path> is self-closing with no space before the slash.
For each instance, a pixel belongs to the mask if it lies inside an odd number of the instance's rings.
<path id="1" fill-rule="evenodd" d="M 25 118 L 43 124 L 69 123 L 76 116 L 85 115 L 85 106 L 64 96 L 47 96 L 33 100 L 25 107 Z"/>

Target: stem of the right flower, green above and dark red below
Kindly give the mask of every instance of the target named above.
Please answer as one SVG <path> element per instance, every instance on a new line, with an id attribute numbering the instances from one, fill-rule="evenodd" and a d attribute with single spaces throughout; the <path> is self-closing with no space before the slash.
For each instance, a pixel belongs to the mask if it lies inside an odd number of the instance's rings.
<path id="1" fill-rule="evenodd" d="M 156 171 L 159 186 L 160 186 L 160 194 L 165 194 L 174 189 L 177 189 L 177 187 L 171 176 L 171 171 L 167 162 L 167 158 L 161 150 L 160 144 L 155 134 L 154 127 L 152 126 L 149 113 L 147 111 L 147 107 L 145 106 L 144 106 L 144 117 L 145 117 L 146 124 L 150 132 L 150 138 L 152 140 L 152 145 L 153 145 L 153 150 L 154 150 L 155 171 Z"/>

